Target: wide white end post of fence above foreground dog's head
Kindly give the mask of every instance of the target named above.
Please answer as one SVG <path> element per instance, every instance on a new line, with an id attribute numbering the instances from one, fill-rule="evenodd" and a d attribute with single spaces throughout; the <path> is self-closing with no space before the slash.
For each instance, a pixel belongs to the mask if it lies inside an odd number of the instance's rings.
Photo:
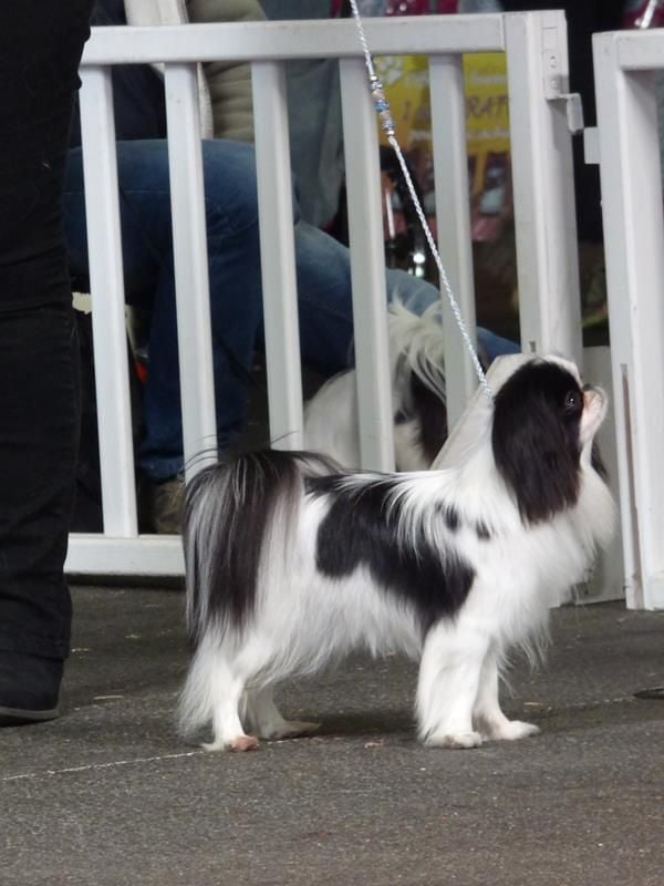
<path id="1" fill-rule="evenodd" d="M 521 346 L 582 360 L 562 12 L 505 16 Z"/>

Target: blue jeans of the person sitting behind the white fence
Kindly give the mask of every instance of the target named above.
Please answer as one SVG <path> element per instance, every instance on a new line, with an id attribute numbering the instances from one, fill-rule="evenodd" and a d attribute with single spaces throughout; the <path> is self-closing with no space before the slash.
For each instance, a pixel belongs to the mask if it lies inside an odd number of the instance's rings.
<path id="1" fill-rule="evenodd" d="M 159 481 L 183 467 L 177 324 L 164 141 L 118 142 L 118 181 L 127 300 L 152 313 L 145 388 L 145 437 L 139 468 Z M 251 145 L 203 143 L 208 225 L 212 356 L 219 446 L 242 426 L 247 374 L 262 323 L 258 202 Z M 70 151 L 65 182 L 65 238 L 74 279 L 87 275 L 81 150 Z M 331 375 L 349 365 L 353 313 L 350 253 L 299 219 L 294 202 L 295 264 L 302 360 Z M 438 290 L 400 270 L 387 271 L 387 291 L 417 312 L 439 300 Z M 484 336 L 484 333 L 483 333 Z M 485 337 L 486 338 L 486 337 Z M 492 357 L 516 348 L 488 333 Z"/>

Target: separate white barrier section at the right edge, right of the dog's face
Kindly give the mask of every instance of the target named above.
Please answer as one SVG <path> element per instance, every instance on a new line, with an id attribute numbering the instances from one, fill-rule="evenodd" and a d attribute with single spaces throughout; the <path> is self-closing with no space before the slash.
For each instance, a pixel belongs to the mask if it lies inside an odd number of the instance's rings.
<path id="1" fill-rule="evenodd" d="M 664 30 L 593 39 L 625 591 L 664 608 Z"/>

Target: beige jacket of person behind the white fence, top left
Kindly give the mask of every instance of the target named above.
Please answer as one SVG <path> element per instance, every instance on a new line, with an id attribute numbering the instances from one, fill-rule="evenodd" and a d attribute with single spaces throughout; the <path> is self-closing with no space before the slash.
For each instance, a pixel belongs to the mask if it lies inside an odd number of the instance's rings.
<path id="1" fill-rule="evenodd" d="M 261 21 L 258 0 L 125 0 L 128 24 L 187 24 Z M 253 141 L 251 70 L 237 62 L 199 65 L 204 137 Z"/>

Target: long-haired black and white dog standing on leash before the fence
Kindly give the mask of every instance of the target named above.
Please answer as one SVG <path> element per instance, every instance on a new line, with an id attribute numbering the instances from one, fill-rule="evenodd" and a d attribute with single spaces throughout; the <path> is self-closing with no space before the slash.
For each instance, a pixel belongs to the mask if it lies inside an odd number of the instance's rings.
<path id="1" fill-rule="evenodd" d="M 499 674 L 512 647 L 537 649 L 550 606 L 610 539 L 613 502 L 592 459 L 606 396 L 572 363 L 535 358 L 481 409 L 449 470 L 346 474 L 262 452 L 195 477 L 186 732 L 211 721 L 208 749 L 248 750 L 310 731 L 281 717 L 271 687 L 357 648 L 419 660 L 426 744 L 537 731 L 502 713 Z"/>

